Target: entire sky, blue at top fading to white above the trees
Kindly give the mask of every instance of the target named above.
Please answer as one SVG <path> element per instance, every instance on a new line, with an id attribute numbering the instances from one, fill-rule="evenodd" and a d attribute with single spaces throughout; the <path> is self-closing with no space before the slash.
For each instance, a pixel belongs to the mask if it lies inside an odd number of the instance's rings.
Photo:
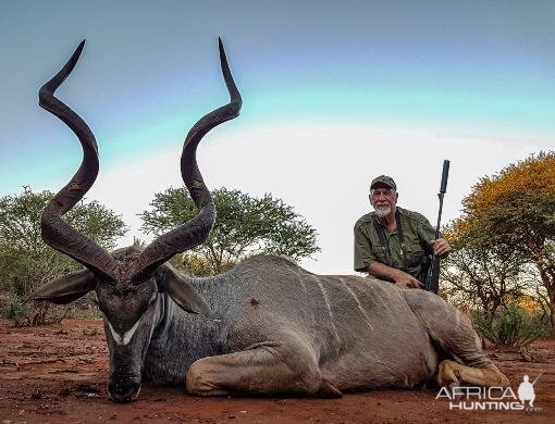
<path id="1" fill-rule="evenodd" d="M 553 149 L 554 21 L 553 1 L 0 0 L 0 195 L 55 190 L 78 166 L 37 91 L 86 38 L 59 97 L 99 144 L 87 198 L 139 235 L 136 213 L 181 184 L 188 128 L 227 100 L 222 36 L 244 108 L 206 137 L 207 182 L 282 197 L 320 233 L 305 265 L 348 273 L 374 175 L 435 221 L 451 159 L 448 220 L 480 176 Z"/>

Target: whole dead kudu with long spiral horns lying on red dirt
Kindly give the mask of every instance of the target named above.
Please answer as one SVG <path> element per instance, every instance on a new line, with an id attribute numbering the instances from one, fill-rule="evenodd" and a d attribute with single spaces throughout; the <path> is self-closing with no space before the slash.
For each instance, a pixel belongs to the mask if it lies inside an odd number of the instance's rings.
<path id="1" fill-rule="evenodd" d="M 193 126 L 181 158 L 183 180 L 199 214 L 145 249 L 113 252 L 62 221 L 91 187 L 99 166 L 92 133 L 53 96 L 83 45 L 39 98 L 42 108 L 73 129 L 84 152 L 77 173 L 42 212 L 42 238 L 86 270 L 45 285 L 28 299 L 67 303 L 96 291 L 113 400 L 135 399 L 143 379 L 185 383 L 190 394 L 202 396 L 338 397 L 345 390 L 411 388 L 434 376 L 440 385 L 508 384 L 482 352 L 468 317 L 424 290 L 357 276 L 314 275 L 273 255 L 250 258 L 208 278 L 183 275 L 166 263 L 201 244 L 215 220 L 196 149 L 211 128 L 236 117 L 242 105 L 221 40 L 231 101 Z"/>

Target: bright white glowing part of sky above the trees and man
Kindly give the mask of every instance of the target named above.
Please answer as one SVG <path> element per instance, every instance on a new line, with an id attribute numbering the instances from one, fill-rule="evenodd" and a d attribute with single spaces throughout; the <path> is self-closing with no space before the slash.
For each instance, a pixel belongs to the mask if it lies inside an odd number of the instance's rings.
<path id="1" fill-rule="evenodd" d="M 368 210 L 368 185 L 380 174 L 392 175 L 399 205 L 423 213 L 432 224 L 437 214 L 437 191 L 443 159 L 451 174 L 443 223 L 456 217 L 460 201 L 480 176 L 526 158 L 532 146 L 480 137 L 445 136 L 433 132 L 319 125 L 218 132 L 206 136 L 198 162 L 210 188 L 225 186 L 250 195 L 272 192 L 293 205 L 319 233 L 322 251 L 304 266 L 321 274 L 353 273 L 353 225 Z M 133 164 L 101 174 L 87 195 L 122 213 L 133 236 L 137 214 L 153 194 L 183 185 L 181 146 L 152 153 Z"/>

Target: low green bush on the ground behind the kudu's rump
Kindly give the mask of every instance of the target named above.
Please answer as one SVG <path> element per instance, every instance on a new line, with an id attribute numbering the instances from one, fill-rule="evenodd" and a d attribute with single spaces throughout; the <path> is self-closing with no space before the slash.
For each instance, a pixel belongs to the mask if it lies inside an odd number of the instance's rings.
<path id="1" fill-rule="evenodd" d="M 502 307 L 494 314 L 473 311 L 470 316 L 478 334 L 495 346 L 527 346 L 550 334 L 550 322 L 545 315 L 529 312 L 518 304 Z"/>

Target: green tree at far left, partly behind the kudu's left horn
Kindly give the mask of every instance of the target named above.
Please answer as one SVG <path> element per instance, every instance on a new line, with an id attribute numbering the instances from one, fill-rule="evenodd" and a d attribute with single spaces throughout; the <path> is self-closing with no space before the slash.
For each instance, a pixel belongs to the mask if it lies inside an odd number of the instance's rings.
<path id="1" fill-rule="evenodd" d="M 20 195 L 0 198 L 0 290 L 21 298 L 82 267 L 40 237 L 40 214 L 52 197 L 49 191 L 24 187 Z M 64 219 L 107 249 L 114 248 L 116 238 L 126 232 L 121 217 L 97 201 L 77 203 Z"/>

